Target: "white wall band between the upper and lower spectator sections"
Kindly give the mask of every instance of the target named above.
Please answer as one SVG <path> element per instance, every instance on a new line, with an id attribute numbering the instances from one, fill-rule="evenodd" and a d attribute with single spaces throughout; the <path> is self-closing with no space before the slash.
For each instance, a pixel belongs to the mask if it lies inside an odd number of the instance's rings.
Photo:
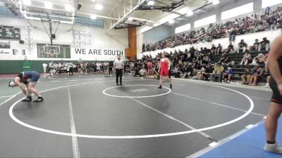
<path id="1" fill-rule="evenodd" d="M 275 30 L 270 30 L 266 32 L 257 32 L 253 34 L 239 35 L 239 36 L 236 36 L 235 42 L 233 42 L 233 46 L 235 50 L 237 50 L 238 43 L 240 42 L 241 39 L 244 39 L 244 41 L 248 44 L 248 46 L 252 46 L 252 44 L 255 43 L 255 39 L 259 39 L 259 41 L 262 41 L 264 37 L 266 37 L 267 39 L 269 39 L 270 42 L 272 42 L 274 41 L 276 37 L 281 35 L 281 33 L 282 33 L 282 29 L 275 29 Z M 158 53 L 161 53 L 164 51 L 165 52 L 171 52 L 174 50 L 185 51 L 186 48 L 189 50 L 189 48 L 191 48 L 192 46 L 194 46 L 194 48 L 197 48 L 199 50 L 200 48 L 204 48 L 204 47 L 211 48 L 212 44 L 214 44 L 215 46 L 218 46 L 218 44 L 221 44 L 222 48 L 225 49 L 229 45 L 229 39 L 228 38 L 216 39 L 216 40 L 213 40 L 212 42 L 201 42 L 198 44 L 188 44 L 188 45 L 183 45 L 183 46 L 176 46 L 175 48 L 165 48 L 163 50 L 150 51 L 150 52 L 145 52 L 145 53 L 137 53 L 137 59 L 141 59 L 143 55 L 149 55 L 149 54 L 151 54 L 152 57 L 154 58 Z"/>

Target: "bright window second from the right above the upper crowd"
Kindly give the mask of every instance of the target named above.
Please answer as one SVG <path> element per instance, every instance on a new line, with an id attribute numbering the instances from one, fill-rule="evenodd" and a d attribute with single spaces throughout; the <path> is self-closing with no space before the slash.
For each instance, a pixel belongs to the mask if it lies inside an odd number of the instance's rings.
<path id="1" fill-rule="evenodd" d="M 233 8 L 233 9 L 228 10 L 228 11 L 223 11 L 221 13 L 221 20 L 226 20 L 228 18 L 233 18 L 235 16 L 243 15 L 243 14 L 246 14 L 246 13 L 250 13 L 252 11 L 254 11 L 254 3 L 245 4 L 243 6 L 239 6 L 237 8 Z"/>

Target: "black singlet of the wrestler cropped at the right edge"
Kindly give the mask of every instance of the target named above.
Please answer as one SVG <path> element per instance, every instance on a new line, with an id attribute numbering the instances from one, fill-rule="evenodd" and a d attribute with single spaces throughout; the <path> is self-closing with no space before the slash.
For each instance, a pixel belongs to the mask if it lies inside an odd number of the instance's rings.
<path id="1" fill-rule="evenodd" d="M 282 72 L 282 57 L 278 59 L 278 65 L 280 67 L 280 72 Z M 277 83 L 274 80 L 274 77 L 272 77 L 272 76 L 271 76 L 271 79 L 270 79 L 269 86 L 273 91 L 271 102 L 278 103 L 278 104 L 282 105 L 282 96 L 280 95 L 280 92 L 279 92 L 278 87 L 277 87 Z"/>

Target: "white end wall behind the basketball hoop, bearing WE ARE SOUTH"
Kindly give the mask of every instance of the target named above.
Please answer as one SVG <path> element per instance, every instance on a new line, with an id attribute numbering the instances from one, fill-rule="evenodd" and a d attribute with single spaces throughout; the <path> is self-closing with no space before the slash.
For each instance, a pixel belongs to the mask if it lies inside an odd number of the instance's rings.
<path id="1" fill-rule="evenodd" d="M 125 58 L 125 48 L 128 46 L 128 31 L 127 29 L 111 30 L 106 32 L 108 28 L 100 29 L 94 27 L 74 26 L 74 30 L 91 32 L 93 34 L 93 44 L 90 48 L 75 48 L 71 46 L 73 41 L 73 32 L 71 31 L 71 25 L 61 24 L 56 32 L 56 39 L 54 44 L 68 45 L 71 47 L 71 58 L 38 58 L 37 56 L 37 44 L 50 44 L 47 32 L 42 25 L 42 22 L 30 20 L 32 25 L 36 28 L 32 29 L 33 34 L 33 52 L 25 53 L 27 60 L 114 60 L 116 55 L 121 54 L 122 58 Z M 20 27 L 21 39 L 25 41 L 26 32 L 25 27 L 28 23 L 25 20 L 12 19 L 12 18 L 0 18 L 0 25 L 8 25 Z M 44 22 L 47 30 L 49 24 Z M 57 24 L 53 24 L 54 31 Z M 8 42 L 6 40 L 0 40 L 0 42 Z M 11 50 L 25 49 L 26 44 L 19 44 L 18 41 L 10 41 Z M 10 51 L 11 51 L 10 50 Z M 0 60 L 24 60 L 25 55 L 13 55 L 13 53 L 0 53 Z M 1 65 L 2 61 L 0 61 Z"/>

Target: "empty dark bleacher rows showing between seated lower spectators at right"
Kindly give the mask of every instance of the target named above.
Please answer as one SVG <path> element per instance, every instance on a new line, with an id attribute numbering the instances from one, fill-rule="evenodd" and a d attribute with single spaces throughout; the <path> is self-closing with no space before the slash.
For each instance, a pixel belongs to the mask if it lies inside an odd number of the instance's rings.
<path id="1" fill-rule="evenodd" d="M 250 54 L 252 55 L 252 59 L 255 58 L 259 53 L 263 53 L 266 55 L 268 51 L 250 51 Z M 239 65 L 241 60 L 243 59 L 244 53 L 229 53 L 226 54 L 228 56 L 228 61 L 234 61 L 235 65 L 230 65 L 232 67 L 234 75 L 233 75 L 233 81 L 241 81 L 241 75 L 245 72 L 245 67 L 247 65 Z M 212 62 L 219 62 L 221 58 L 221 55 L 211 55 Z M 254 68 L 254 65 L 248 65 L 251 68 Z M 265 65 L 260 65 L 262 68 L 264 68 Z M 266 82 L 266 77 L 263 77 L 259 80 L 259 82 Z"/>

